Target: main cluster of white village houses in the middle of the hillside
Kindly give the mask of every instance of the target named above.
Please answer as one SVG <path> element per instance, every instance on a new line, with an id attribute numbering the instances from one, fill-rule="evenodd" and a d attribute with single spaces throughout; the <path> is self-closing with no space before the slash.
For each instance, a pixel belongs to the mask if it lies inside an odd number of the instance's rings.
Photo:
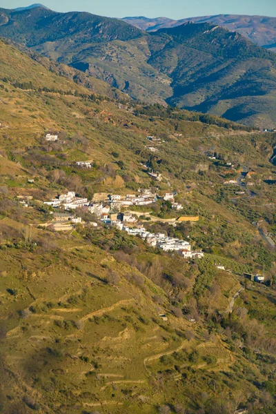
<path id="1" fill-rule="evenodd" d="M 81 223 L 81 218 L 69 213 L 80 207 L 86 207 L 87 210 L 94 214 L 103 224 L 116 226 L 119 230 L 124 230 L 129 235 L 140 236 L 145 239 L 150 246 L 161 248 L 166 252 L 176 251 L 186 259 L 202 257 L 203 253 L 191 251 L 191 246 L 188 242 L 174 237 L 167 237 L 163 233 L 152 234 L 144 227 L 133 227 L 137 222 L 136 215 L 132 213 L 120 213 L 121 207 L 128 206 L 146 206 L 163 199 L 170 201 L 172 208 L 180 210 L 181 204 L 175 203 L 174 193 L 165 193 L 164 195 L 157 195 L 152 193 L 151 189 L 141 188 L 139 195 L 128 194 L 126 196 L 110 194 L 108 199 L 104 201 L 88 201 L 87 198 L 76 197 L 75 192 L 69 191 L 67 194 L 61 194 L 55 199 L 45 201 L 44 204 L 54 208 L 61 208 L 59 213 L 53 213 L 54 224 L 51 224 L 55 230 L 65 230 L 73 224 Z M 68 213 L 66 212 L 68 210 Z M 119 212 L 119 213 L 118 213 Z M 67 222 L 67 223 L 66 223 Z"/>

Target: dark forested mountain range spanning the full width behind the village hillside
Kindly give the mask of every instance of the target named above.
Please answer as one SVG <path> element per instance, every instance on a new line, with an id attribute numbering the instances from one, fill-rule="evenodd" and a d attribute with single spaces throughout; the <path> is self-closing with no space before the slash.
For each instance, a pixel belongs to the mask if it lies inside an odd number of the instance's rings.
<path id="1" fill-rule="evenodd" d="M 238 32 L 184 23 L 144 32 L 119 19 L 43 7 L 0 9 L 0 36 L 106 81 L 134 99 L 276 124 L 276 55 Z"/>

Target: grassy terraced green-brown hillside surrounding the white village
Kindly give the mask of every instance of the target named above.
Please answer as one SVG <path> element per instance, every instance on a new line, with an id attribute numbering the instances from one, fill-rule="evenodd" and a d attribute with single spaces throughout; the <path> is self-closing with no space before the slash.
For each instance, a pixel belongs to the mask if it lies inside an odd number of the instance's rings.
<path id="1" fill-rule="evenodd" d="M 0 412 L 273 414 L 276 257 L 253 221 L 274 237 L 275 134 L 93 94 L 3 41 L 0 58 Z M 139 188 L 182 210 L 133 206 L 137 226 L 203 258 L 81 208 L 70 230 L 45 227 L 57 210 L 43 201 L 68 190 Z M 199 219 L 172 226 L 179 215 Z"/>

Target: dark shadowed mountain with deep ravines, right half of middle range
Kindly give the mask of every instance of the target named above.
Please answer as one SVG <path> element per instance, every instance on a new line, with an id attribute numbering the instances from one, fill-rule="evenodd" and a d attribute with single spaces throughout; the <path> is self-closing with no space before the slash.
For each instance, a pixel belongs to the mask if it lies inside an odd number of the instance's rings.
<path id="1" fill-rule="evenodd" d="M 258 48 L 237 32 L 208 23 L 162 29 L 153 37 L 161 33 L 172 40 L 152 53 L 149 62 L 172 79 L 169 103 L 273 127 L 273 52 Z"/>

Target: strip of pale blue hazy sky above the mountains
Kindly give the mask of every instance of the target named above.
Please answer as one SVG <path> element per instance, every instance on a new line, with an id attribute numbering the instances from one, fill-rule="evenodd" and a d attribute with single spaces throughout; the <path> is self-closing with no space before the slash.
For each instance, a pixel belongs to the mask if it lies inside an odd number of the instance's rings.
<path id="1" fill-rule="evenodd" d="M 182 19 L 220 13 L 276 17 L 276 0 L 44 0 L 41 3 L 58 12 L 77 10 L 108 17 L 166 16 Z M 1 8 L 17 8 L 30 4 L 32 3 L 28 0 L 0 0 Z"/>

